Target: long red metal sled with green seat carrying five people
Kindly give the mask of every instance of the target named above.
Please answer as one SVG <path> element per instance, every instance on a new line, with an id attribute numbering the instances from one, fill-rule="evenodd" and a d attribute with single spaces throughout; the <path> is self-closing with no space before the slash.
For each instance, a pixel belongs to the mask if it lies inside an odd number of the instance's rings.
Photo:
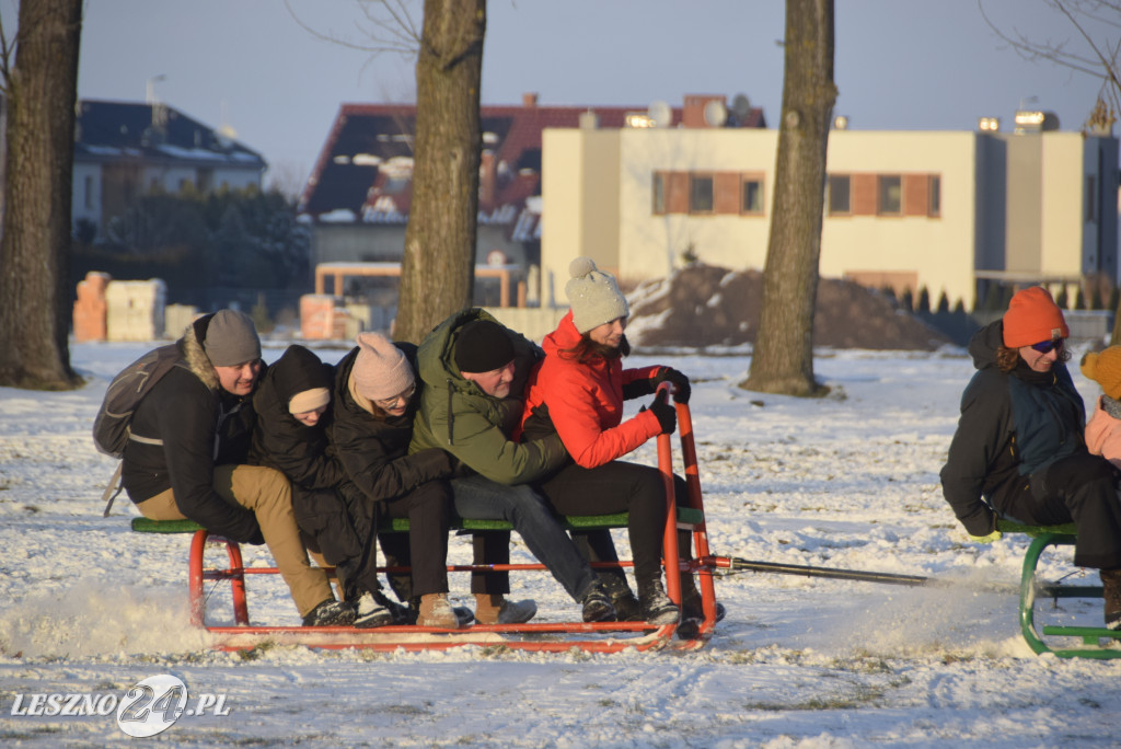
<path id="1" fill-rule="evenodd" d="M 707 530 L 704 523 L 704 503 L 701 497 L 701 479 L 697 470 L 696 449 L 693 437 L 693 422 L 688 406 L 677 404 L 677 423 L 680 434 L 682 459 L 688 496 L 677 506 L 674 492 L 673 447 L 667 434 L 658 437 L 658 468 L 666 487 L 668 509 L 664 537 L 664 566 L 666 592 L 671 600 L 680 602 L 679 575 L 674 571 L 692 572 L 698 576 L 704 620 L 695 636 L 674 639 L 676 625 L 660 627 L 647 622 L 602 622 L 583 621 L 531 622 L 525 625 L 474 625 L 466 629 L 443 630 L 416 626 L 389 626 L 376 629 L 353 627 L 281 627 L 251 623 L 247 597 L 247 575 L 278 574 L 276 567 L 245 567 L 241 548 L 235 542 L 211 536 L 191 520 L 154 521 L 133 518 L 132 529 L 139 533 L 192 533 L 188 561 L 188 590 L 192 623 L 204 628 L 214 636 L 214 647 L 224 650 L 251 649 L 266 641 L 276 644 L 304 645 L 317 648 L 372 648 L 377 650 L 429 650 L 447 649 L 464 645 L 504 647 L 520 650 L 559 653 L 573 648 L 589 653 L 614 653 L 626 648 L 656 650 L 661 648 L 696 649 L 712 636 L 716 620 L 716 595 L 713 584 L 715 564 L 708 549 Z M 619 528 L 626 527 L 626 514 L 612 516 L 580 516 L 565 518 L 572 528 Z M 396 521 L 398 529 L 407 527 L 407 521 Z M 465 520 L 458 528 L 508 529 L 500 521 Z M 680 560 L 677 548 L 677 529 L 691 530 L 696 548 L 694 560 Z M 206 566 L 207 547 L 224 546 L 225 566 Z M 631 566 L 621 562 L 619 566 Z M 473 571 L 473 565 L 450 566 L 450 572 Z M 490 566 L 490 570 L 529 571 L 545 570 L 541 564 L 511 564 Z M 205 584 L 229 582 L 233 602 L 234 625 L 206 622 L 207 595 Z"/>

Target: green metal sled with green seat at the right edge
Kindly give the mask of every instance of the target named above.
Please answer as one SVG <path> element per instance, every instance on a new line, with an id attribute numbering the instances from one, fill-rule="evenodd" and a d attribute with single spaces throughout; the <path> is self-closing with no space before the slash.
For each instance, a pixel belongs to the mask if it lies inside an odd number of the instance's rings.
<path id="1" fill-rule="evenodd" d="M 1023 568 L 1020 575 L 1020 630 L 1023 639 L 1036 654 L 1051 653 L 1059 658 L 1121 658 L 1121 649 L 1109 647 L 1113 640 L 1121 639 L 1121 631 L 1102 627 L 1075 627 L 1067 625 L 1043 625 L 1036 622 L 1036 600 L 1051 599 L 1053 609 L 1058 609 L 1059 599 L 1096 599 L 1102 600 L 1102 586 L 1083 584 L 1063 584 L 1059 582 L 1041 582 L 1036 576 L 1039 558 L 1050 546 L 1073 546 L 1075 526 L 1073 523 L 1062 526 L 1025 526 L 1010 520 L 998 520 L 997 528 L 1002 533 L 1025 533 L 1032 537 L 1031 544 L 1023 556 Z M 1095 616 L 1101 616 L 1101 609 L 1094 607 Z M 1048 640 L 1044 638 L 1047 637 Z M 1082 647 L 1055 644 L 1056 638 L 1076 638 Z M 1109 640 L 1103 645 L 1103 640 Z"/>

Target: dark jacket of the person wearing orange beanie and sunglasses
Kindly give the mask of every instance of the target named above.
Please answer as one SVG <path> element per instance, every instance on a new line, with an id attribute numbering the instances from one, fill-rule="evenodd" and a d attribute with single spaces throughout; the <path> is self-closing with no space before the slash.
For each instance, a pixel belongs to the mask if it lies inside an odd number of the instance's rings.
<path id="1" fill-rule="evenodd" d="M 1002 372 L 997 367 L 1002 340 L 998 320 L 970 342 L 978 371 L 962 394 L 957 432 L 942 469 L 943 494 L 973 536 L 995 529 L 993 508 L 1003 511 L 1029 484 L 1031 472 L 1085 451 L 1082 399 L 1066 366 L 1034 372 L 1021 361 Z M 1026 455 L 1031 462 L 1025 462 Z"/>

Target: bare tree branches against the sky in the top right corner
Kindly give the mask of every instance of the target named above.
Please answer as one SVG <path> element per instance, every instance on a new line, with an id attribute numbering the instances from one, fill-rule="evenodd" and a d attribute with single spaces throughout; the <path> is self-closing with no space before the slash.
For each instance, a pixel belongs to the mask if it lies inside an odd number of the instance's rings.
<path id="1" fill-rule="evenodd" d="M 1121 112 L 1121 2 L 1118 0 L 1039 0 L 1055 16 L 1053 28 L 1072 38 L 1031 39 L 1021 34 L 1015 20 L 1004 27 L 978 8 L 985 24 L 1021 57 L 1046 61 L 1101 81 L 1097 104 L 1091 110 L 1086 128 L 1112 126 Z M 1017 11 L 1019 11 L 1017 7 Z"/>

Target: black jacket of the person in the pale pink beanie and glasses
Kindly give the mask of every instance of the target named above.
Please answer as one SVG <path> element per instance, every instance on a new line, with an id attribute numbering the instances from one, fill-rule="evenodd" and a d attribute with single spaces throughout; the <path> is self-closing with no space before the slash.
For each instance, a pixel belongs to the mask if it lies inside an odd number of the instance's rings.
<path id="1" fill-rule="evenodd" d="M 416 371 L 416 351 L 413 343 L 397 342 Z M 339 362 L 335 373 L 334 420 L 331 442 L 346 474 L 367 498 L 374 501 L 392 500 L 420 484 L 453 474 L 451 456 L 439 449 L 421 450 L 408 454 L 413 438 L 413 417 L 420 401 L 421 383 L 413 395 L 402 416 L 374 418 L 354 399 L 350 390 L 350 374 L 358 358 L 353 349 Z"/>

